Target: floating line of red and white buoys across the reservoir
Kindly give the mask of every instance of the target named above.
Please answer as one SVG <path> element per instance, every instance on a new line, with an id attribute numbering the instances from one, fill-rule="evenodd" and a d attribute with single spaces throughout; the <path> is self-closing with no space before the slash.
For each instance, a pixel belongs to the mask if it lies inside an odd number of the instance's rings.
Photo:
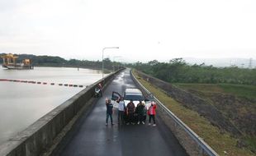
<path id="1" fill-rule="evenodd" d="M 33 81 L 33 80 L 11 80 L 11 79 L 0 79 L 0 81 L 8 81 L 8 82 L 21 82 L 21 83 L 28 83 L 28 84 L 37 84 L 37 85 L 59 85 L 59 86 L 69 86 L 69 87 L 86 87 L 84 85 L 73 85 L 73 84 L 58 84 L 58 83 L 47 83 L 47 82 L 40 82 L 40 81 Z"/>

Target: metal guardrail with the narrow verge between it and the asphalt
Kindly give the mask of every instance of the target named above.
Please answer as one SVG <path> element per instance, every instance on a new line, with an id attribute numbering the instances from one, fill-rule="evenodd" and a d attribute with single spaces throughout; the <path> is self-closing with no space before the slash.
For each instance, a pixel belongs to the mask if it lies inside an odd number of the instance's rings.
<path id="1" fill-rule="evenodd" d="M 139 80 L 135 78 L 131 72 L 131 77 L 135 81 L 135 84 L 145 93 L 150 94 L 149 90 L 143 86 Z M 173 131 L 173 134 L 178 139 L 179 143 L 183 145 L 183 148 L 189 155 L 210 155 L 217 156 L 216 151 L 211 149 L 194 131 L 192 131 L 183 121 L 176 117 L 173 112 L 164 106 L 159 99 L 153 97 L 160 109 L 157 110 L 159 117 L 164 120 L 164 123 L 168 128 Z"/>

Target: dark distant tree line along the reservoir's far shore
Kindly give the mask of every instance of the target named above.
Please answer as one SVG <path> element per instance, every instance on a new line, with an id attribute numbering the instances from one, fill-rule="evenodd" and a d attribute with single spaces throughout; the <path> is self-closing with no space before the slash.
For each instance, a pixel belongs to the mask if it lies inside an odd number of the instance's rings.
<path id="1" fill-rule="evenodd" d="M 0 56 L 4 56 L 6 53 L 0 53 Z M 88 61 L 88 60 L 78 60 L 69 59 L 65 60 L 62 57 L 52 57 L 52 56 L 36 56 L 31 54 L 15 54 L 17 56 L 17 62 L 22 62 L 23 59 L 31 59 L 31 63 L 36 67 L 83 67 L 91 69 L 102 69 L 102 61 Z M 114 67 L 121 67 L 120 62 L 111 62 L 109 58 L 103 60 L 104 68 L 112 70 Z M 2 64 L 2 59 L 0 59 L 0 64 Z"/>

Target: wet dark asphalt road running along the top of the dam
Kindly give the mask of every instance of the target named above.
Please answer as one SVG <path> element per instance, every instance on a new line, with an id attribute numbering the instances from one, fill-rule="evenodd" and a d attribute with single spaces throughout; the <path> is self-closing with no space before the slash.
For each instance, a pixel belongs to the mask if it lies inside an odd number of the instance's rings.
<path id="1" fill-rule="evenodd" d="M 62 148 L 56 155 L 111 155 L 111 156 L 164 156 L 187 155 L 172 132 L 157 117 L 157 126 L 117 124 L 117 112 L 113 115 L 114 126 L 105 126 L 105 99 L 111 98 L 112 91 L 124 93 L 126 88 L 135 88 L 130 71 L 122 71 L 103 91 L 88 115 L 83 115 Z M 148 117 L 147 117 L 148 119 Z M 109 121 L 110 122 L 110 121 Z"/>

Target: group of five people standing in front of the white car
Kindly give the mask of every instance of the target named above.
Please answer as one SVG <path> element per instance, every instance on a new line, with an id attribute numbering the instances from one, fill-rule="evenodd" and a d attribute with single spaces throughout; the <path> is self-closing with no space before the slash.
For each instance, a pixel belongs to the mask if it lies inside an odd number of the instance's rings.
<path id="1" fill-rule="evenodd" d="M 140 103 L 137 104 L 137 107 L 135 107 L 135 103 L 133 103 L 132 100 L 130 100 L 130 103 L 125 105 L 124 99 L 117 99 L 116 102 L 118 103 L 118 114 L 117 114 L 117 121 L 118 124 L 126 124 L 130 125 L 135 123 L 139 124 L 145 124 L 147 114 L 149 116 L 149 125 L 151 125 L 151 120 L 153 120 L 153 126 L 156 126 L 155 124 L 155 109 L 156 104 L 152 102 L 147 108 L 145 106 L 145 102 L 140 100 Z M 113 104 L 111 103 L 111 99 L 106 99 L 106 106 L 107 106 L 107 117 L 106 117 L 106 125 L 108 125 L 108 119 L 111 119 L 111 125 L 114 125 L 112 113 L 113 113 Z"/>

